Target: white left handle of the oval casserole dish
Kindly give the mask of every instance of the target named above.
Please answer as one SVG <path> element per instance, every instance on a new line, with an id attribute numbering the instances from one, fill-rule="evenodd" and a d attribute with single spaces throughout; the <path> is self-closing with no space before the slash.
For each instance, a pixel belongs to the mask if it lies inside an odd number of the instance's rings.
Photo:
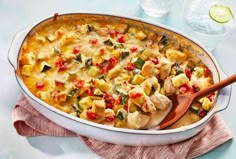
<path id="1" fill-rule="evenodd" d="M 18 61 L 18 53 L 21 48 L 21 44 L 23 40 L 25 39 L 26 35 L 28 34 L 29 29 L 24 29 L 16 33 L 14 36 L 11 46 L 8 51 L 8 61 L 16 70 L 17 68 L 17 61 Z"/>

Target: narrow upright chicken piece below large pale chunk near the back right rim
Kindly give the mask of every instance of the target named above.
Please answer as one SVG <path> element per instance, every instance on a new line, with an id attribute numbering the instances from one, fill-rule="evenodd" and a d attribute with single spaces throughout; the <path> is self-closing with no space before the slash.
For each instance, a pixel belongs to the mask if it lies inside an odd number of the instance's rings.
<path id="1" fill-rule="evenodd" d="M 169 76 L 171 71 L 171 62 L 162 57 L 159 59 L 160 78 L 165 79 Z"/>

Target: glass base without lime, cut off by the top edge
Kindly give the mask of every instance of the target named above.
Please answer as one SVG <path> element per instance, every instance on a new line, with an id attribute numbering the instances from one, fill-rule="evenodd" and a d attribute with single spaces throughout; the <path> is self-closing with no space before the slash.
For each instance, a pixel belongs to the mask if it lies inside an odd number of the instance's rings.
<path id="1" fill-rule="evenodd" d="M 174 0 L 140 0 L 143 11 L 151 17 L 162 17 L 169 13 Z"/>

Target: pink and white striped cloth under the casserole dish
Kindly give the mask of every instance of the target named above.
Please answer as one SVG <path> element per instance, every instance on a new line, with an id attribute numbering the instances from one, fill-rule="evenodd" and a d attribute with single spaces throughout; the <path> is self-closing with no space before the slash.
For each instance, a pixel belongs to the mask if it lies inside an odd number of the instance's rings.
<path id="1" fill-rule="evenodd" d="M 80 136 L 49 121 L 38 113 L 24 96 L 19 98 L 12 117 L 19 135 L 79 137 L 94 153 L 105 159 L 189 159 L 207 153 L 233 138 L 219 114 L 216 114 L 198 135 L 164 146 L 115 145 Z"/>

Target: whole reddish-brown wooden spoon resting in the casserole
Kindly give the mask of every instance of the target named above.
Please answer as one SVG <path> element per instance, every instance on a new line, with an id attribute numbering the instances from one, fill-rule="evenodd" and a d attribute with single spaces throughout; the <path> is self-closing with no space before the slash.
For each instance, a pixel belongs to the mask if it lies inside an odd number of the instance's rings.
<path id="1" fill-rule="evenodd" d="M 227 85 L 230 85 L 231 83 L 236 82 L 236 74 L 211 85 L 208 88 L 205 88 L 203 90 L 200 90 L 199 92 L 196 92 L 194 94 L 190 95 L 173 95 L 169 98 L 171 99 L 173 105 L 171 111 L 167 114 L 167 116 L 160 122 L 159 129 L 164 129 L 167 126 L 170 126 L 174 122 L 176 122 L 180 117 L 184 115 L 184 113 L 188 110 L 188 108 L 191 106 L 191 104 L 197 100 L 200 99 L 212 92 L 215 92 Z"/>

